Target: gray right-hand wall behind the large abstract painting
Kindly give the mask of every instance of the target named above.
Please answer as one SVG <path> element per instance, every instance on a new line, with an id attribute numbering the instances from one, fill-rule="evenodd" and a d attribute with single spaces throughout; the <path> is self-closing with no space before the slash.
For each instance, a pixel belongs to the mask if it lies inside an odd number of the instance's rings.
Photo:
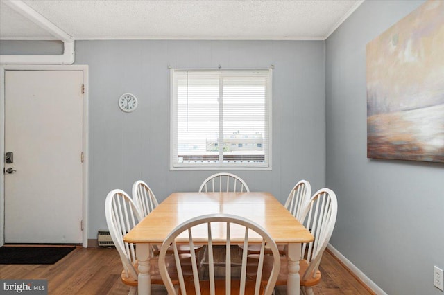
<path id="1" fill-rule="evenodd" d="M 366 44 L 422 3 L 365 1 L 325 42 L 330 242 L 388 294 L 443 294 L 444 164 L 366 158 Z"/>

